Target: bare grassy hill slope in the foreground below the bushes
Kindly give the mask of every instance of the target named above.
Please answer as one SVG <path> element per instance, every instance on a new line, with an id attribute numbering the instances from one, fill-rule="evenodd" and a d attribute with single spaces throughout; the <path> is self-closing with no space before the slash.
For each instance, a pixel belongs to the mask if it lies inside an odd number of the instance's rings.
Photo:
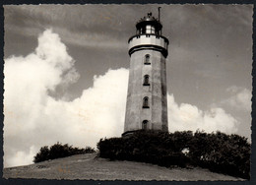
<path id="1" fill-rule="evenodd" d="M 26 166 L 4 168 L 3 178 L 94 180 L 244 180 L 208 169 L 166 168 L 134 161 L 110 161 L 96 154 L 77 154 Z"/>

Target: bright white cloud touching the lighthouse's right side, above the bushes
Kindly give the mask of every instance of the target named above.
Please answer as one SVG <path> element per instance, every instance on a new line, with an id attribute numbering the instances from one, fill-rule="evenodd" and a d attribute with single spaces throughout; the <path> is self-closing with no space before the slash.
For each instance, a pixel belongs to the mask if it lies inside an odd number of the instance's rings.
<path id="1" fill-rule="evenodd" d="M 205 132 L 222 131 L 227 134 L 237 132 L 238 121 L 227 114 L 223 108 L 216 107 L 203 111 L 197 106 L 174 101 L 168 95 L 168 127 L 170 132 L 184 130 L 203 130 Z"/>

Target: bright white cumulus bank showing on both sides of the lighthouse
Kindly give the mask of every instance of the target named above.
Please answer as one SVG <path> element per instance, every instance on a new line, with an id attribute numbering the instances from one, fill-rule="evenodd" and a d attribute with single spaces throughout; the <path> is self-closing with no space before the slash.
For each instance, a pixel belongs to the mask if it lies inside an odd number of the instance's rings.
<path id="1" fill-rule="evenodd" d="M 123 132 L 128 70 L 109 69 L 95 76 L 94 86 L 72 101 L 56 99 L 50 92 L 75 83 L 79 74 L 58 34 L 50 30 L 38 37 L 28 56 L 5 60 L 4 166 L 32 163 L 42 146 L 56 142 L 96 147 L 100 138 Z M 236 132 L 237 121 L 222 108 L 203 111 L 178 105 L 168 95 L 169 131 L 197 129 Z"/>

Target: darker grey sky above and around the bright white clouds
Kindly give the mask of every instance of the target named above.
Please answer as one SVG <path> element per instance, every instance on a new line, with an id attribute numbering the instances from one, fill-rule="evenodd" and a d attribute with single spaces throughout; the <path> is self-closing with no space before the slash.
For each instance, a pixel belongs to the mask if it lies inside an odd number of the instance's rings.
<path id="1" fill-rule="evenodd" d="M 71 101 L 93 88 L 95 76 L 129 68 L 128 38 L 148 12 L 157 17 L 159 6 L 162 35 L 170 42 L 167 92 L 178 105 L 203 112 L 222 107 L 239 122 L 237 133 L 250 138 L 252 5 L 8 5 L 5 59 L 32 53 L 38 35 L 51 29 L 80 78 L 50 93 Z"/>

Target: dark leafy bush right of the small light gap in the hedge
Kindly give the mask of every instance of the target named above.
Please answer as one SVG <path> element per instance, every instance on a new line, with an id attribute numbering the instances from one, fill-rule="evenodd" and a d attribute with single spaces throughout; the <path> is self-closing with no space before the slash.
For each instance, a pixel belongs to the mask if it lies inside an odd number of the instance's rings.
<path id="1" fill-rule="evenodd" d="M 199 166 L 250 178 L 250 144 L 246 138 L 221 132 L 196 132 L 190 146 L 190 158 Z"/>

